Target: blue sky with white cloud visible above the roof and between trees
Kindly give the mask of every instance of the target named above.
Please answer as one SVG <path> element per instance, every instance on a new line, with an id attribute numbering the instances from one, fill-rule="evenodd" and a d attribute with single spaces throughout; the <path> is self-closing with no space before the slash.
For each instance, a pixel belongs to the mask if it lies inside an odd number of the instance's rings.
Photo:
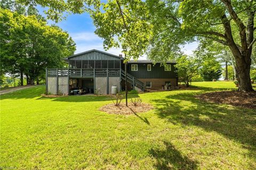
<path id="1" fill-rule="evenodd" d="M 37 9 L 41 14 L 44 15 L 42 7 L 38 6 Z M 49 20 L 49 24 L 54 23 Z M 76 52 L 81 53 L 87 50 L 97 49 L 104 51 L 103 40 L 94 34 L 95 27 L 89 14 L 69 14 L 66 20 L 62 20 L 55 23 L 63 30 L 67 31 L 68 34 L 74 39 L 76 43 Z M 192 54 L 193 50 L 197 47 L 197 43 L 190 43 L 182 48 L 182 51 L 186 54 Z M 122 54 L 121 48 L 111 48 L 107 52 L 111 54 Z M 146 56 L 140 59 L 146 59 Z"/>

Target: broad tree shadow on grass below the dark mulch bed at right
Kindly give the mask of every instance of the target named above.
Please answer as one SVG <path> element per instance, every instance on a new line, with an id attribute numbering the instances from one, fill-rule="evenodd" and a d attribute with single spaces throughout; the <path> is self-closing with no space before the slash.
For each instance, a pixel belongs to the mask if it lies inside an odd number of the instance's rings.
<path id="1" fill-rule="evenodd" d="M 195 99 L 193 93 L 167 95 L 156 103 L 156 114 L 182 126 L 198 126 L 242 143 L 256 157 L 256 112 Z"/>

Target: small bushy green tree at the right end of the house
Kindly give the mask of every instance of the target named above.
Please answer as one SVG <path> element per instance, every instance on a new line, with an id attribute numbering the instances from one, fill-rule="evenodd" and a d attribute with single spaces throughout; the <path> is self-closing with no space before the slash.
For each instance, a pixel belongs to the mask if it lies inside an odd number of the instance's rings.
<path id="1" fill-rule="evenodd" d="M 201 67 L 201 60 L 188 55 L 182 55 L 175 64 L 180 81 L 185 83 L 187 87 L 189 87 L 192 78 L 199 74 L 199 67 Z"/>

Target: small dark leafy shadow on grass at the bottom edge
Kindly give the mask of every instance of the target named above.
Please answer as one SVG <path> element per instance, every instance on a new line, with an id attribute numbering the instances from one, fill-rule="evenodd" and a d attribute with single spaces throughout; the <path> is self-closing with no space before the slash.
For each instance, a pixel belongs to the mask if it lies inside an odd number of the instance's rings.
<path id="1" fill-rule="evenodd" d="M 150 155 L 156 158 L 156 169 L 197 169 L 197 163 L 175 149 L 170 143 L 164 141 L 165 149 L 151 149 Z"/>

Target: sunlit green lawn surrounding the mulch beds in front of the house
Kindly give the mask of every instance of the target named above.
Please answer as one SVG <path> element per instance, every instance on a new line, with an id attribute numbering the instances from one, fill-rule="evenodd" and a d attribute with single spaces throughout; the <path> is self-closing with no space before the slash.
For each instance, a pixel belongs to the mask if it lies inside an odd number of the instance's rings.
<path id="1" fill-rule="evenodd" d="M 255 110 L 194 98 L 233 82 L 193 85 L 203 88 L 139 94 L 155 109 L 138 116 L 99 111 L 106 96 L 43 98 L 44 86 L 4 94 L 0 167 L 256 169 Z"/>

